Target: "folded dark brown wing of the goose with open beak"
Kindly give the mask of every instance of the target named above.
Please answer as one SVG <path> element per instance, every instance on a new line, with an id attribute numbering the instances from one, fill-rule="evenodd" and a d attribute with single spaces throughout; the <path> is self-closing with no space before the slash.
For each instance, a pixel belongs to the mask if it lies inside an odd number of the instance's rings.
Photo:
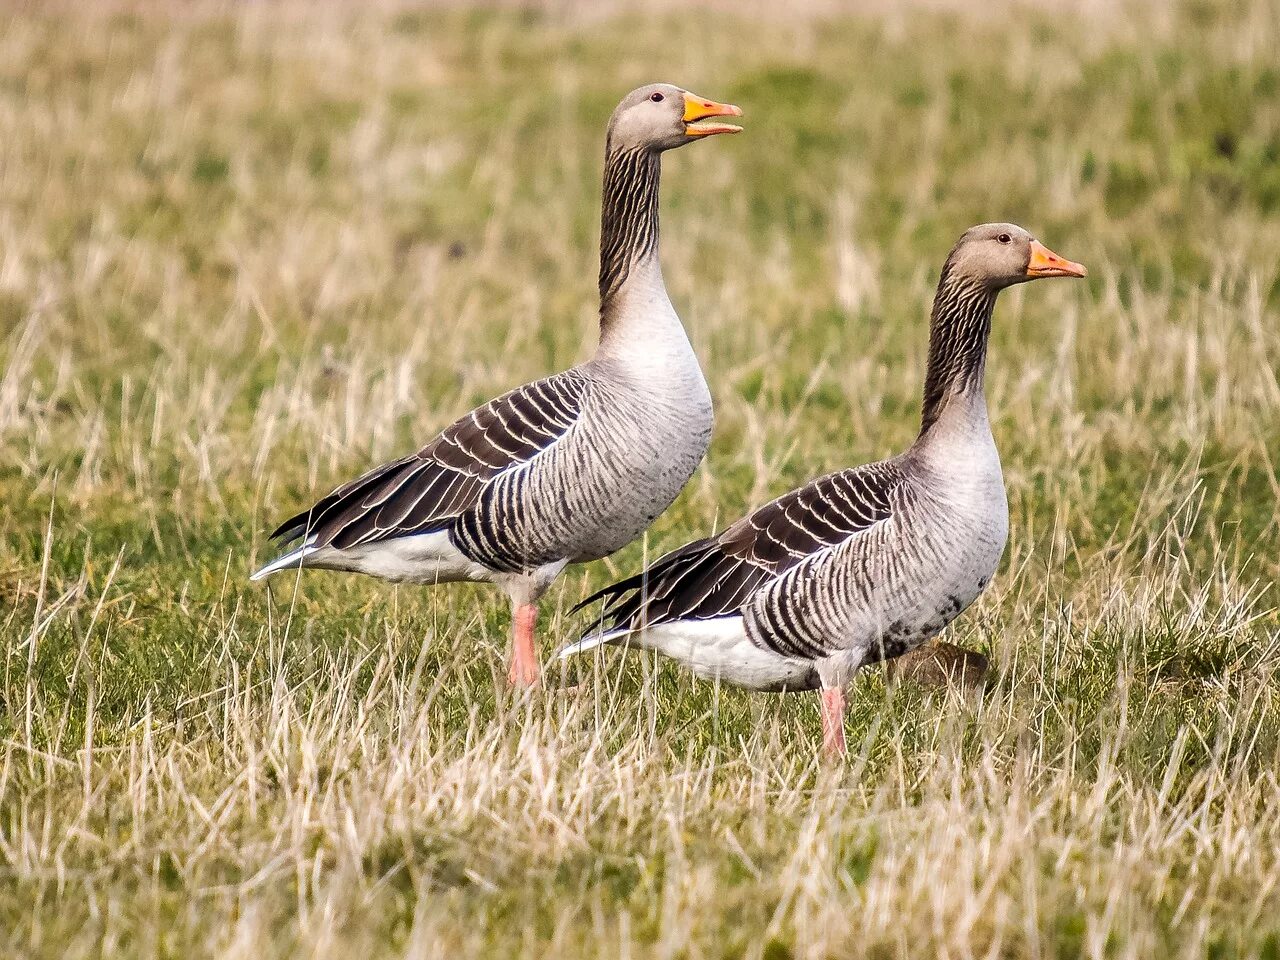
<path id="1" fill-rule="evenodd" d="M 581 417 L 589 388 L 577 370 L 517 387 L 417 453 L 375 467 L 289 517 L 271 539 L 346 549 L 438 530 L 475 504 L 495 477 L 563 438 Z"/>

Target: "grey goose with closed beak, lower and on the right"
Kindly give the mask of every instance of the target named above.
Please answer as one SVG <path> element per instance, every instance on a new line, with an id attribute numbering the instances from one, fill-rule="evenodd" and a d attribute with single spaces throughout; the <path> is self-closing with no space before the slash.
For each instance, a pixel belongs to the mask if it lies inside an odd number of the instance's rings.
<path id="1" fill-rule="evenodd" d="M 1004 553 L 1009 503 L 983 393 L 997 294 L 1084 275 L 1021 227 L 966 230 L 933 301 L 911 447 L 813 480 L 593 594 L 579 608 L 604 599 L 602 613 L 558 655 L 635 645 L 751 690 L 820 690 L 823 749 L 844 754 L 854 673 L 937 635 Z"/>

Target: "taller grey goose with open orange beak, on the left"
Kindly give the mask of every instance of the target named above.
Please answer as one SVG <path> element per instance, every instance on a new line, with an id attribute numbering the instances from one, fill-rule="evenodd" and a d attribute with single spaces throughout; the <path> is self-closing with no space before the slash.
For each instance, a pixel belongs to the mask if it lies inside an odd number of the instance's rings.
<path id="1" fill-rule="evenodd" d="M 495 584 L 512 605 L 508 680 L 534 685 L 539 598 L 566 564 L 639 536 L 707 453 L 712 398 L 663 283 L 658 180 L 663 152 L 737 133 L 716 118 L 741 114 L 669 83 L 623 97 L 605 137 L 595 355 L 289 517 L 271 539 L 297 545 L 251 580 L 319 568 Z"/>

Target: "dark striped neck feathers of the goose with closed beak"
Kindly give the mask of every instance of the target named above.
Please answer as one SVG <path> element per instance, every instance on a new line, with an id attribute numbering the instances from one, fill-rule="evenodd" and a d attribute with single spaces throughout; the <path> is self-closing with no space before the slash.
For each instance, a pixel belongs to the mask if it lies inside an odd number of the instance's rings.
<path id="1" fill-rule="evenodd" d="M 956 397 L 982 397 L 987 367 L 991 314 L 1000 291 L 952 269 L 942 268 L 929 317 L 929 365 L 924 375 L 923 436 Z"/>

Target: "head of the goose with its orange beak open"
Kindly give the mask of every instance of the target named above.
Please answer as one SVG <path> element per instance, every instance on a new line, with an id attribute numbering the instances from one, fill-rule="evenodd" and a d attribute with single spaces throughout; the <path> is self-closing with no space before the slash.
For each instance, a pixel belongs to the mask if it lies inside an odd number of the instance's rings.
<path id="1" fill-rule="evenodd" d="M 612 150 L 660 152 L 717 133 L 737 133 L 741 127 L 713 118 L 741 115 L 732 104 L 717 104 L 671 83 L 649 83 L 622 97 L 609 119 L 608 142 Z"/>

